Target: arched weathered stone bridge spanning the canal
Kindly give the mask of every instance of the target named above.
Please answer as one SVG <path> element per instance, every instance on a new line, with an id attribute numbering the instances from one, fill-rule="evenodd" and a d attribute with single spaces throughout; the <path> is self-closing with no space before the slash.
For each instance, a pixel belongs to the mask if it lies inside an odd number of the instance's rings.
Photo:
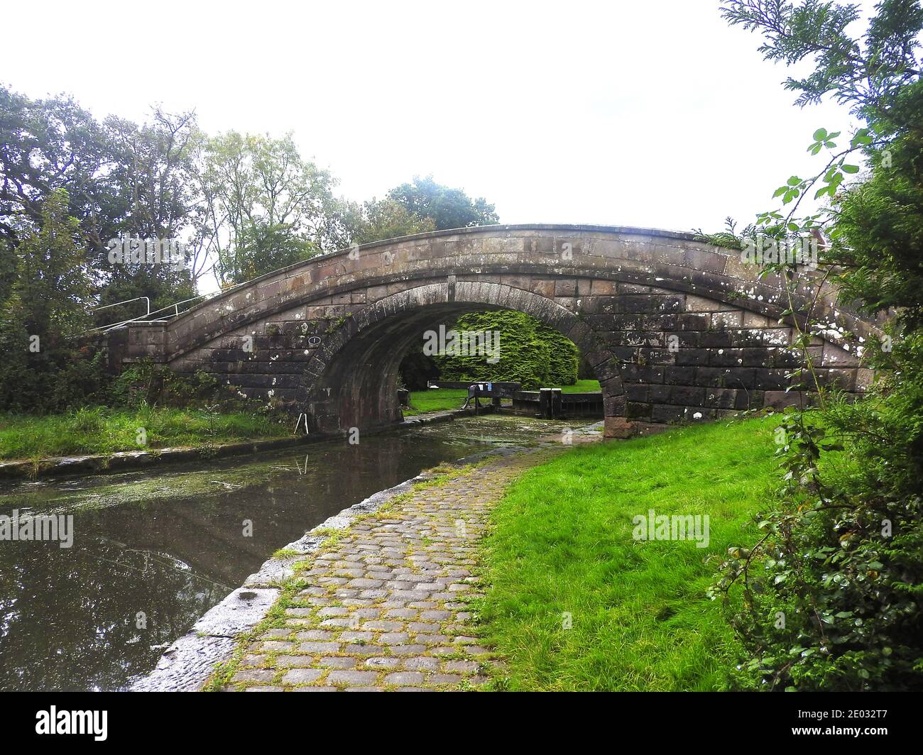
<path id="1" fill-rule="evenodd" d="M 395 380 L 423 332 L 465 312 L 526 312 L 576 343 L 605 399 L 607 435 L 631 420 L 704 420 L 778 405 L 790 350 L 777 276 L 691 234 L 639 228 L 495 225 L 407 236 L 312 258 L 212 298 L 169 323 L 110 334 L 116 361 L 150 356 L 180 373 L 216 373 L 248 396 L 307 410 L 312 431 L 401 417 Z M 805 309 L 809 279 L 795 308 Z M 826 385 L 861 390 L 869 373 L 835 328 L 874 325 L 816 313 L 831 341 L 810 347 Z M 843 348 L 843 346 L 846 347 Z"/>

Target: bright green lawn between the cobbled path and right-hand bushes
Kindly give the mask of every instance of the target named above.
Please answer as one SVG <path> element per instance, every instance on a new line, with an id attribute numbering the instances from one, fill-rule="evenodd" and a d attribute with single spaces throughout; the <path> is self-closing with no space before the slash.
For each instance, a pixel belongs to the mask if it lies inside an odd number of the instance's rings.
<path id="1" fill-rule="evenodd" d="M 721 689 L 735 641 L 706 597 L 778 485 L 772 417 L 580 447 L 524 473 L 485 542 L 488 638 L 509 689 Z M 632 538 L 635 515 L 708 514 L 710 545 Z M 563 615 L 572 627 L 563 628 Z"/>

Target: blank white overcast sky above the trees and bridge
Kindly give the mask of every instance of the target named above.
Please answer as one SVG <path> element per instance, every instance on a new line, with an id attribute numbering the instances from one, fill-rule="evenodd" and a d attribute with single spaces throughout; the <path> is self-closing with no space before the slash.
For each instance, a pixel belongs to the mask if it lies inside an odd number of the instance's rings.
<path id="1" fill-rule="evenodd" d="M 0 79 L 99 117 L 195 108 L 208 132 L 294 131 L 348 198 L 434 174 L 501 222 L 714 231 L 818 161 L 716 0 L 7 4 Z M 41 14 L 41 18 L 37 18 Z M 44 48 L 36 49 L 36 42 Z M 818 165 L 818 169 L 819 169 Z"/>

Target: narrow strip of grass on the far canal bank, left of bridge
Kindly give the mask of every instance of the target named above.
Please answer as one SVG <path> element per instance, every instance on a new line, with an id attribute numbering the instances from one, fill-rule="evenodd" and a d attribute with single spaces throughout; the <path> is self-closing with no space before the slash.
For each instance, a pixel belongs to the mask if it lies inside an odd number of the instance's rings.
<path id="1" fill-rule="evenodd" d="M 143 427 L 147 445 L 138 443 Z M 205 446 L 291 435 L 278 419 L 250 413 L 209 415 L 192 409 L 90 407 L 67 414 L 0 413 L 0 459 L 41 459 L 171 446 Z"/>

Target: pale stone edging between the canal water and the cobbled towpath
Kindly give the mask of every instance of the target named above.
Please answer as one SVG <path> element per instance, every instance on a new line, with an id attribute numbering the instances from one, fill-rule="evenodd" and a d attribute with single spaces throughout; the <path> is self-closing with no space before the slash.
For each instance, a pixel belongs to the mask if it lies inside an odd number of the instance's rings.
<path id="1" fill-rule="evenodd" d="M 574 435 L 595 435 L 602 423 L 574 430 Z M 459 466 L 487 457 L 510 456 L 527 449 L 517 446 L 490 449 L 460 459 Z M 260 569 L 247 577 L 243 587 L 234 590 L 218 605 L 213 606 L 163 653 L 154 670 L 131 686 L 132 691 L 198 691 L 209 679 L 215 665 L 227 660 L 236 648 L 237 639 L 256 627 L 270 611 L 282 593 L 282 582 L 294 576 L 294 563 L 318 550 L 330 530 L 347 530 L 365 514 L 377 511 L 388 501 L 409 492 L 417 483 L 438 476 L 421 473 L 379 491 L 360 503 L 333 515 L 312 528 L 303 537 L 282 548 L 284 557 L 271 557 Z M 291 554 L 291 555 L 289 555 Z"/>

